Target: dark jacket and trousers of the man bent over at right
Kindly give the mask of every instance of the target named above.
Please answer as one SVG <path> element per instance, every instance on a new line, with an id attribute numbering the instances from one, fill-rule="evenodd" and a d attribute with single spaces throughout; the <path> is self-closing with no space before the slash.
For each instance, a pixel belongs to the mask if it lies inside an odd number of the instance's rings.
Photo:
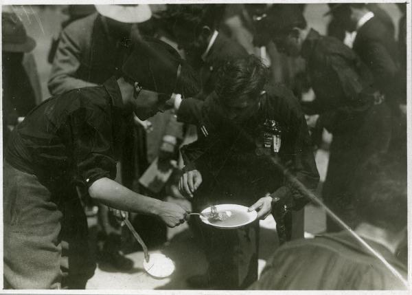
<path id="1" fill-rule="evenodd" d="M 350 182 L 374 153 L 387 151 L 390 111 L 371 87 L 373 77 L 341 41 L 310 30 L 301 49 L 316 96 L 306 111 L 319 113 L 317 125 L 333 134 L 323 200 L 350 226 L 356 225 Z M 328 219 L 329 220 L 329 219 Z M 328 230 L 332 230 L 328 224 Z M 341 230 L 336 226 L 334 230 Z"/>

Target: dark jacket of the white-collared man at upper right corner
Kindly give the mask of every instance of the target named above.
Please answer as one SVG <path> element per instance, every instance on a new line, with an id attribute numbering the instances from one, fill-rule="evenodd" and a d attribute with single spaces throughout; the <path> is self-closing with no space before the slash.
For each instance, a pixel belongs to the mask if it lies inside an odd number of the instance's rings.
<path id="1" fill-rule="evenodd" d="M 374 86 L 391 97 L 394 79 L 398 72 L 398 48 L 393 32 L 378 19 L 372 17 L 357 32 L 353 50 L 374 75 Z"/>

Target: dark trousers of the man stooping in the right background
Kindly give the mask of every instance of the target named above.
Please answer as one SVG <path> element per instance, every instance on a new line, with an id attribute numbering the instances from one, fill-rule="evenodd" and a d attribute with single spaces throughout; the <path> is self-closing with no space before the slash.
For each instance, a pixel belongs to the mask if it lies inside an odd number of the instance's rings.
<path id="1" fill-rule="evenodd" d="M 328 174 L 323 184 L 323 200 L 326 206 L 352 228 L 358 222 L 350 190 L 352 175 L 371 155 L 388 151 L 391 133 L 391 112 L 382 103 L 372 106 L 365 113 L 365 118 L 357 129 L 333 134 Z M 329 216 L 326 228 L 328 232 L 342 230 Z"/>

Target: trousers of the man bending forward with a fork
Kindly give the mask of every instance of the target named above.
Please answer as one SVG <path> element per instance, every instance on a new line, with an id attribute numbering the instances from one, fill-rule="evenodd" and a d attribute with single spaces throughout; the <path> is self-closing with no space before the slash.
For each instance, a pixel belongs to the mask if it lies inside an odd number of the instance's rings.
<path id="1" fill-rule="evenodd" d="M 56 195 L 36 175 L 4 162 L 3 225 L 5 288 L 80 289 L 93 276 L 75 188 Z"/>

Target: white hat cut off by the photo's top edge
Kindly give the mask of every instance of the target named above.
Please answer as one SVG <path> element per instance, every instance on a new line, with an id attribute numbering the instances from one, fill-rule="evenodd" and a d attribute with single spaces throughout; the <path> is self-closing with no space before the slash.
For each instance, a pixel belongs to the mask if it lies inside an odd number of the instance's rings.
<path id="1" fill-rule="evenodd" d="M 143 23 L 152 17 L 148 4 L 96 5 L 95 7 L 102 16 L 121 23 Z"/>

